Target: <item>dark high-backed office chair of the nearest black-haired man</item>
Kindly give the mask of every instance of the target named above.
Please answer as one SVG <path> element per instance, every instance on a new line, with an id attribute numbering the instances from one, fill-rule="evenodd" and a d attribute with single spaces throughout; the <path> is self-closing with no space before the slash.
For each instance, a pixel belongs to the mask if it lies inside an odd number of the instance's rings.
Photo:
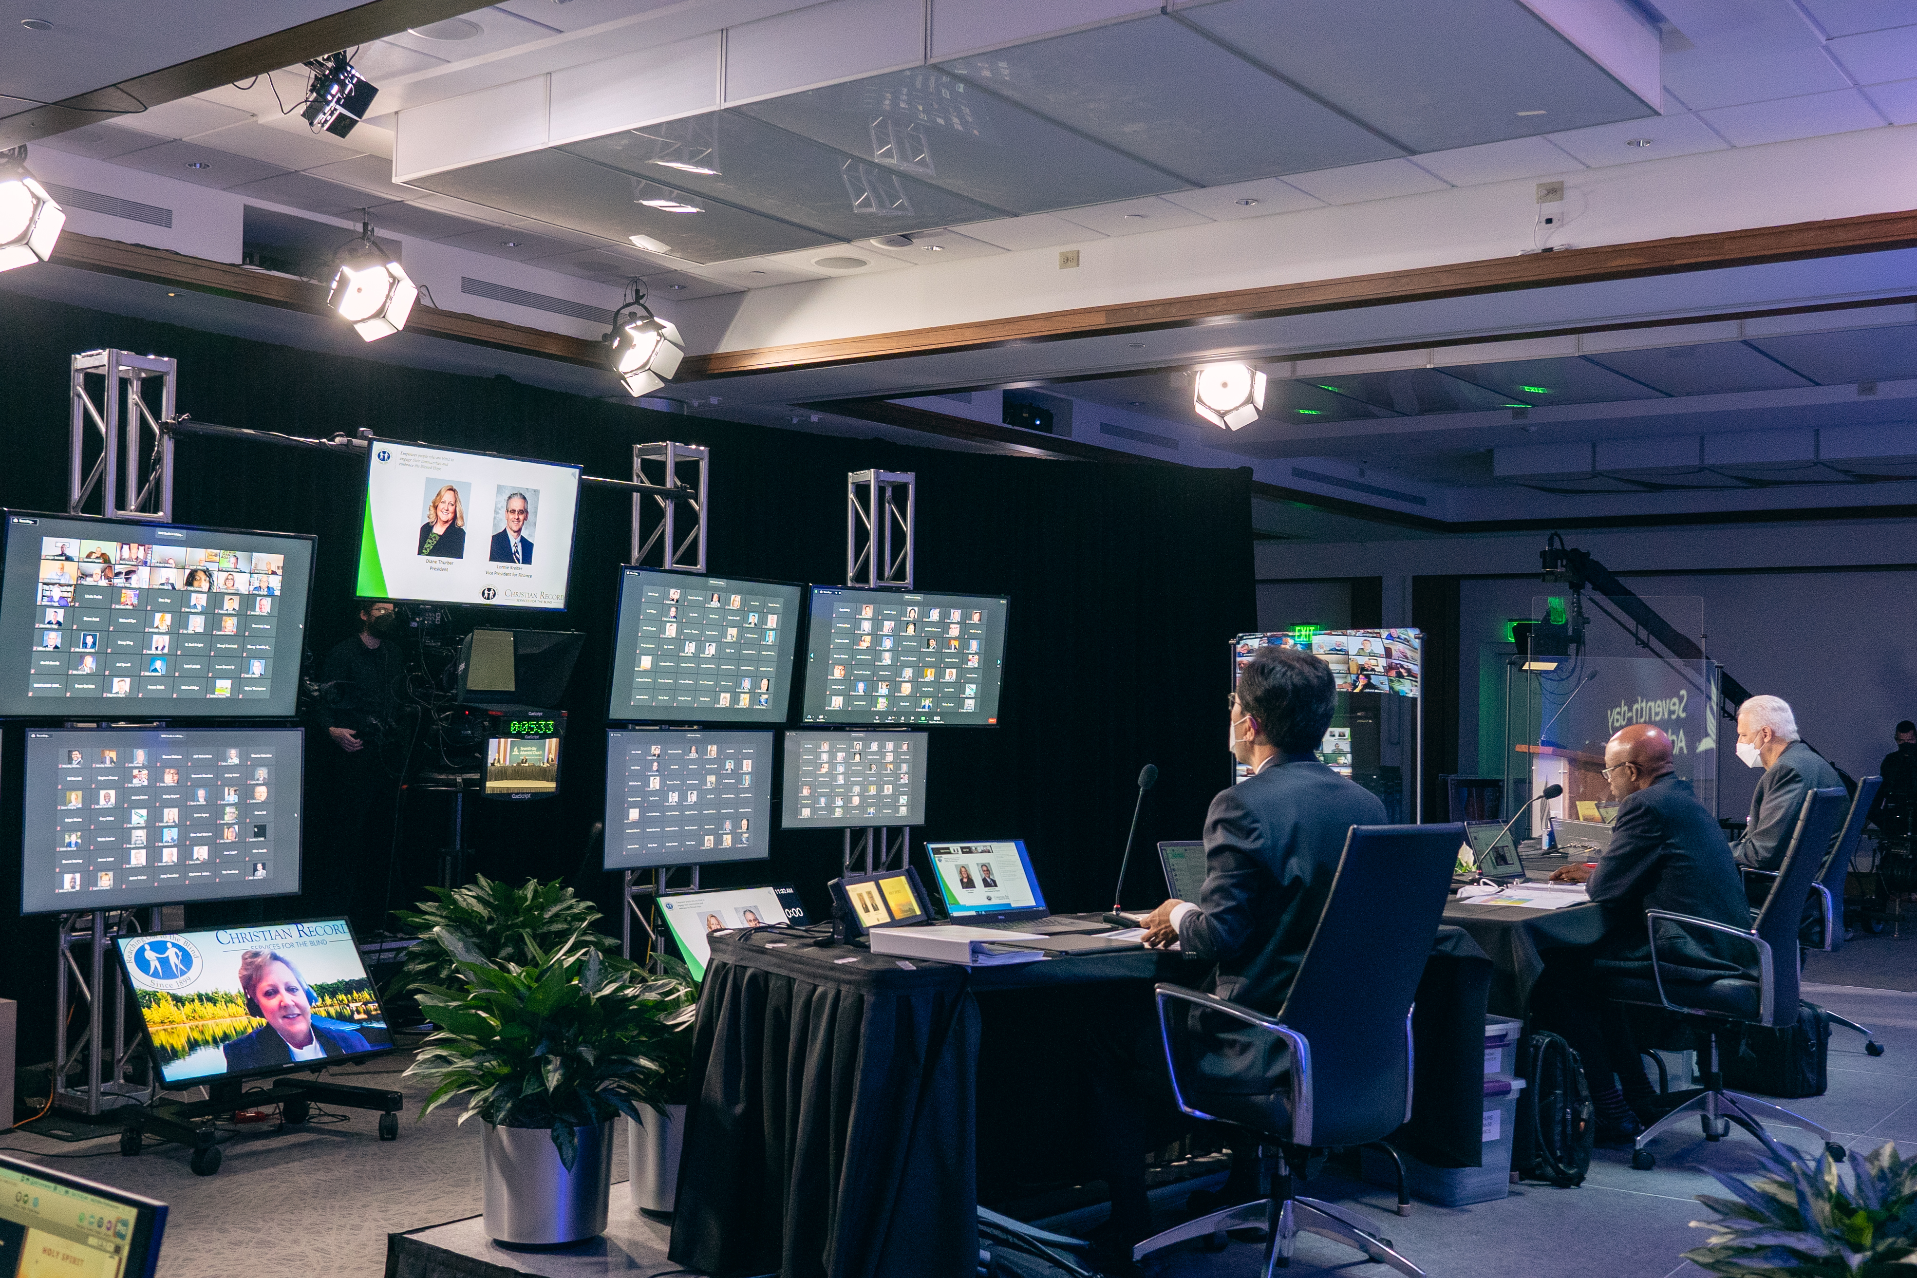
<path id="1" fill-rule="evenodd" d="M 1267 1157 L 1275 1146 L 1279 1161 L 1269 1198 L 1146 1238 L 1133 1247 L 1135 1261 L 1189 1238 L 1265 1222 L 1265 1274 L 1288 1265 L 1298 1230 L 1309 1230 L 1422 1278 L 1424 1270 L 1355 1213 L 1294 1198 L 1292 1176 L 1304 1173 L 1313 1148 L 1382 1142 L 1411 1119 L 1411 1000 L 1463 837 L 1457 822 L 1355 826 L 1298 979 L 1273 1016 L 1181 985 L 1158 987 L 1179 1109 L 1242 1127 L 1267 1146 Z M 1265 1067 L 1246 1069 L 1248 1060 Z M 1242 1090 L 1252 1084 L 1265 1090 Z"/>

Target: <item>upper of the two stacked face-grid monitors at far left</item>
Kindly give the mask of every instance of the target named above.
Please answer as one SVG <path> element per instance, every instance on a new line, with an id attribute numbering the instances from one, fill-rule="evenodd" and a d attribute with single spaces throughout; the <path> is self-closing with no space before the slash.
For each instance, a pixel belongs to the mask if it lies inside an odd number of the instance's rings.
<path id="1" fill-rule="evenodd" d="M 10 510 L 0 715 L 291 719 L 311 588 L 311 536 Z"/>

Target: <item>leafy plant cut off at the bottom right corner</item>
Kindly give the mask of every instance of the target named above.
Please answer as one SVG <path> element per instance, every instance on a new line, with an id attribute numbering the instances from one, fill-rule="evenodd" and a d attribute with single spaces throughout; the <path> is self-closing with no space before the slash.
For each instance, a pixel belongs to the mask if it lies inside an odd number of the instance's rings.
<path id="1" fill-rule="evenodd" d="M 1894 1144 L 1882 1144 L 1844 1165 L 1825 1153 L 1815 1165 L 1764 1157 L 1762 1167 L 1766 1175 L 1750 1182 L 1710 1173 L 1737 1198 L 1697 1196 L 1720 1219 L 1691 1222 L 1714 1234 L 1683 1259 L 1712 1274 L 1750 1278 L 1917 1272 L 1917 1159 L 1900 1159 Z"/>

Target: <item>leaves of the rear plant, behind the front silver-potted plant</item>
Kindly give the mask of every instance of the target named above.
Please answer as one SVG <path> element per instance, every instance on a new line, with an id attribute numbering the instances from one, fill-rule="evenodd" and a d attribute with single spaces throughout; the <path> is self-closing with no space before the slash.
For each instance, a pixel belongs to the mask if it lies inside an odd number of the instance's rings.
<path id="1" fill-rule="evenodd" d="M 483 874 L 470 887 L 433 887 L 439 901 L 422 902 L 418 912 L 395 918 L 416 937 L 406 962 L 393 977 L 393 993 L 443 987 L 462 981 L 458 960 L 439 939 L 441 929 L 458 937 L 487 962 L 533 962 L 533 952 L 552 950 L 579 937 L 602 954 L 613 954 L 617 941 L 592 931 L 600 912 L 571 887 L 525 879 L 521 887 L 497 883 Z"/>

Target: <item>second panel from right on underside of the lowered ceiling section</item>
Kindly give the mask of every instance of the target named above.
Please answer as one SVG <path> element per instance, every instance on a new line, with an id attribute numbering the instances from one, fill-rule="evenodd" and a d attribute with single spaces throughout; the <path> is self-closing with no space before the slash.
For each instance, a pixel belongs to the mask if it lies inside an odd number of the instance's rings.
<path id="1" fill-rule="evenodd" d="M 960 57 L 941 69 L 1192 186 L 1403 153 L 1169 17 Z"/>

